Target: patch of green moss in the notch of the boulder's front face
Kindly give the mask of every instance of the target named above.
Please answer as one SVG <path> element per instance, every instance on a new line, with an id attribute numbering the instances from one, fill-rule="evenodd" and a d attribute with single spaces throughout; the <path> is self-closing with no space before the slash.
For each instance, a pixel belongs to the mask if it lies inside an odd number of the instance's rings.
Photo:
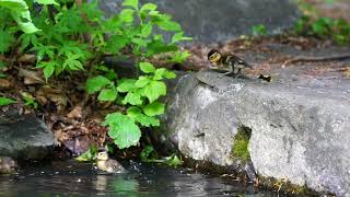
<path id="1" fill-rule="evenodd" d="M 238 127 L 238 131 L 235 135 L 233 147 L 232 147 L 232 157 L 237 158 L 242 161 L 248 161 L 250 154 L 248 151 L 248 143 L 250 139 L 252 130 L 247 127 Z"/>

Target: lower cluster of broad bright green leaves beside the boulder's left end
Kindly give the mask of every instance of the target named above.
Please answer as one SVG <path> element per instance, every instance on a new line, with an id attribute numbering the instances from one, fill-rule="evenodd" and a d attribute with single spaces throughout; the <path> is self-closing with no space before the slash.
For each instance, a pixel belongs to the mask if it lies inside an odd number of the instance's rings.
<path id="1" fill-rule="evenodd" d="M 141 131 L 139 126 L 160 126 L 158 115 L 164 114 L 165 105 L 158 100 L 166 94 L 163 79 L 173 79 L 175 73 L 165 68 L 156 69 L 150 62 L 140 62 L 140 70 L 145 73 L 136 79 L 121 79 L 117 83 L 103 76 L 89 79 L 89 93 L 100 92 L 98 101 L 116 102 L 121 96 L 121 104 L 128 107 L 126 115 L 113 113 L 107 115 L 104 126 L 109 128 L 109 137 L 120 148 L 138 143 Z"/>

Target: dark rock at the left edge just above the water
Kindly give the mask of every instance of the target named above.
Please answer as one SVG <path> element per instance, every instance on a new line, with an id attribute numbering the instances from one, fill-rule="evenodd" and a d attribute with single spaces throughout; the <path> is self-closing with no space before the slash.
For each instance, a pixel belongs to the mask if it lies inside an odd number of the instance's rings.
<path id="1" fill-rule="evenodd" d="M 0 109 L 0 154 L 18 160 L 44 159 L 56 144 L 54 134 L 34 115 Z"/>

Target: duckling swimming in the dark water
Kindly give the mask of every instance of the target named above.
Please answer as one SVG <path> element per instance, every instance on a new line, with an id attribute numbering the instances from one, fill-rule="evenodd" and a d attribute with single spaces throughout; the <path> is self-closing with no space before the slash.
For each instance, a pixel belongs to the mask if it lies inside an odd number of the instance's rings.
<path id="1" fill-rule="evenodd" d="M 109 159 L 107 149 L 98 149 L 96 158 L 97 169 L 107 173 L 122 173 L 126 170 L 116 160 Z"/>

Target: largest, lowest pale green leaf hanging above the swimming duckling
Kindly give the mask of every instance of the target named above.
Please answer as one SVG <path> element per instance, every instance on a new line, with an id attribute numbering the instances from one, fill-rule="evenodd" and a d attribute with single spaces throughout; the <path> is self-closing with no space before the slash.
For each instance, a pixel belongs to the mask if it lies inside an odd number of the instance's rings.
<path id="1" fill-rule="evenodd" d="M 135 120 L 120 113 L 108 114 L 103 123 L 108 126 L 108 135 L 119 149 L 136 146 L 141 137 L 140 128 Z"/>

